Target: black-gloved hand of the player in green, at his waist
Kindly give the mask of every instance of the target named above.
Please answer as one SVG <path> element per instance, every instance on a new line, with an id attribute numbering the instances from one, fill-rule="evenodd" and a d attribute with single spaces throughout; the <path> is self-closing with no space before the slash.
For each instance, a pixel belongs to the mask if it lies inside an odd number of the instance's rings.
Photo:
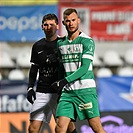
<path id="1" fill-rule="evenodd" d="M 63 87 L 68 84 L 68 81 L 64 78 L 62 80 L 54 82 L 51 86 L 50 89 L 55 90 L 57 93 L 60 93 Z"/>

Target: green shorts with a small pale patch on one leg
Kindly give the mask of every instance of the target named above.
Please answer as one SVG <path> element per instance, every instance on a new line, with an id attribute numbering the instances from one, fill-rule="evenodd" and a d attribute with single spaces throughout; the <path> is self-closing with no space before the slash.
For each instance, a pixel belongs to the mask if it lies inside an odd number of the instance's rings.
<path id="1" fill-rule="evenodd" d="M 96 94 L 81 96 L 61 96 L 56 110 L 56 117 L 66 116 L 73 121 L 100 116 Z"/>

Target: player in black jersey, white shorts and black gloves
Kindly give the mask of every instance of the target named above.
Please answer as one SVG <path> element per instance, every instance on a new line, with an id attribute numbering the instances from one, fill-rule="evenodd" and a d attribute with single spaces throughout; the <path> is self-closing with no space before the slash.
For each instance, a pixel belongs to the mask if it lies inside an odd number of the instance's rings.
<path id="1" fill-rule="evenodd" d="M 58 28 L 57 16 L 45 15 L 42 19 L 42 30 L 46 37 L 35 42 L 32 47 L 27 89 L 27 100 L 32 104 L 29 133 L 39 133 L 43 123 L 49 123 L 52 115 L 55 116 L 59 95 L 49 87 L 58 80 L 59 62 L 56 49 L 57 41 L 60 39 L 56 33 Z M 34 86 L 36 86 L 35 90 Z M 55 133 L 55 123 L 52 124 L 51 132 Z M 67 132 L 77 133 L 73 122 L 70 122 Z"/>

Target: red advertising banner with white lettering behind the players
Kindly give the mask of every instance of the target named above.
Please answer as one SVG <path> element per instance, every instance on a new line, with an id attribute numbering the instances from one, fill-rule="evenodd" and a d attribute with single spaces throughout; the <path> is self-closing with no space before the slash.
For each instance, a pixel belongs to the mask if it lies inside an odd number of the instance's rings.
<path id="1" fill-rule="evenodd" d="M 133 40 L 133 4 L 89 5 L 60 3 L 59 17 L 62 20 L 66 8 L 76 8 L 80 19 L 80 29 L 97 40 Z M 60 34 L 66 30 L 60 24 Z"/>

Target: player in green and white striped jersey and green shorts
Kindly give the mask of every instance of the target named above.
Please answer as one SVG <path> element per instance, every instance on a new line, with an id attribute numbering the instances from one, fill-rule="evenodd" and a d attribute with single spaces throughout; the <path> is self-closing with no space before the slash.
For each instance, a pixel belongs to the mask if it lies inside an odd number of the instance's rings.
<path id="1" fill-rule="evenodd" d="M 95 133 L 106 133 L 100 121 L 92 69 L 94 41 L 79 30 L 80 18 L 75 9 L 66 9 L 63 18 L 68 36 L 58 41 L 58 48 L 65 75 L 50 87 L 62 91 L 56 110 L 56 133 L 66 133 L 69 122 L 77 118 L 86 119 Z"/>

